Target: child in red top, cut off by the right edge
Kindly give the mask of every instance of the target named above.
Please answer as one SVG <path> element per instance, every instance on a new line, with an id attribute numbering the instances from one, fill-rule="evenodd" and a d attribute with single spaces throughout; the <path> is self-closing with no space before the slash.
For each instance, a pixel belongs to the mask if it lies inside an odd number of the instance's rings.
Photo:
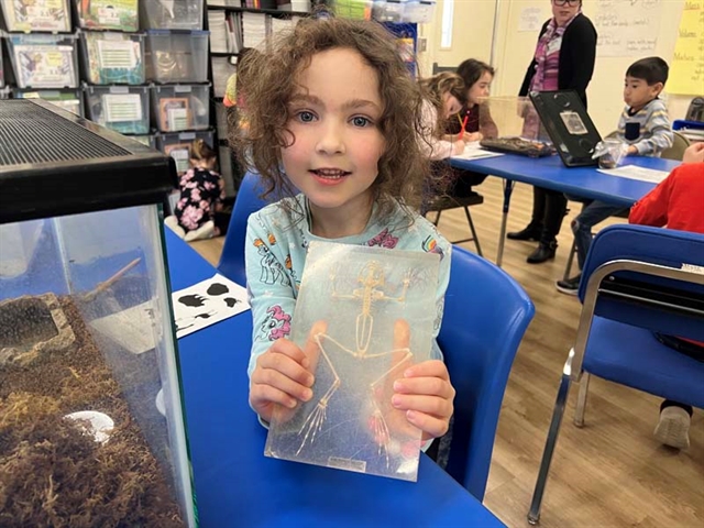
<path id="1" fill-rule="evenodd" d="M 704 143 L 691 145 L 682 162 L 630 209 L 630 223 L 704 233 Z M 662 343 L 704 361 L 704 343 L 672 336 L 657 337 Z M 691 420 L 692 406 L 666 399 L 660 406 L 654 436 L 666 446 L 686 449 Z"/>

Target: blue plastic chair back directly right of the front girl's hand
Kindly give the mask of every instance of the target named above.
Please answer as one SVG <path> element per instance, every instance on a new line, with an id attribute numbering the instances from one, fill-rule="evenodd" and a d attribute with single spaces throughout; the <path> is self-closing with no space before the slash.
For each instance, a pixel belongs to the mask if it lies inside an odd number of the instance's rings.
<path id="1" fill-rule="evenodd" d="M 452 249 L 438 336 L 457 391 L 447 471 L 480 502 L 508 373 L 534 315 L 532 301 L 506 272 L 462 248 Z"/>

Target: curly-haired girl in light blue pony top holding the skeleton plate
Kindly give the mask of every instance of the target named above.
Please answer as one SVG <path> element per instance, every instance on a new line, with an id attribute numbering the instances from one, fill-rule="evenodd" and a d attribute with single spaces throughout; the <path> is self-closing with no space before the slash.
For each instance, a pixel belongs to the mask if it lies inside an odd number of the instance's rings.
<path id="1" fill-rule="evenodd" d="M 381 25 L 306 19 L 254 61 L 238 150 L 270 193 L 288 195 L 252 215 L 246 232 L 250 405 L 268 422 L 275 406 L 294 409 L 314 395 L 310 362 L 287 339 L 311 241 L 440 253 L 436 337 L 451 245 L 415 212 L 428 166 L 422 99 Z M 437 343 L 432 356 L 399 373 L 392 397 L 425 441 L 448 430 L 453 411 Z"/>

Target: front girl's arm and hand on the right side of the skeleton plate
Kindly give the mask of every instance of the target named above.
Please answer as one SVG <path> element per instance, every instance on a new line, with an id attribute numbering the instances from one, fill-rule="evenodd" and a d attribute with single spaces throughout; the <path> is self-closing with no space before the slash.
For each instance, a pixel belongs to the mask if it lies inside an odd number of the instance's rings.
<path id="1" fill-rule="evenodd" d="M 436 295 L 437 318 L 433 328 L 433 346 L 440 332 L 444 294 L 450 283 L 452 245 L 438 239 L 437 248 L 442 250 L 438 292 Z M 399 338 L 400 339 L 400 338 Z M 403 348 L 403 346 L 398 346 Z M 438 438 L 448 431 L 454 410 L 454 388 L 448 369 L 441 360 L 430 360 L 413 365 L 404 371 L 403 377 L 394 383 L 392 405 L 406 410 L 406 419 L 422 431 L 422 439 Z"/>

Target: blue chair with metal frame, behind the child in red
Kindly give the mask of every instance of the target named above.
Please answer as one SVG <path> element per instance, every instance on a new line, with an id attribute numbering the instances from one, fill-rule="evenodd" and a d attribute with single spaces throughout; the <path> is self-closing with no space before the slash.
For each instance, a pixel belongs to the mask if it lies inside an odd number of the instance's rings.
<path id="1" fill-rule="evenodd" d="M 704 363 L 661 344 L 652 333 L 704 341 L 703 268 L 704 234 L 628 224 L 598 232 L 584 263 L 582 314 L 528 513 L 531 525 L 540 519 L 571 382 L 581 382 L 578 427 L 584 424 L 590 374 L 704 407 Z"/>

